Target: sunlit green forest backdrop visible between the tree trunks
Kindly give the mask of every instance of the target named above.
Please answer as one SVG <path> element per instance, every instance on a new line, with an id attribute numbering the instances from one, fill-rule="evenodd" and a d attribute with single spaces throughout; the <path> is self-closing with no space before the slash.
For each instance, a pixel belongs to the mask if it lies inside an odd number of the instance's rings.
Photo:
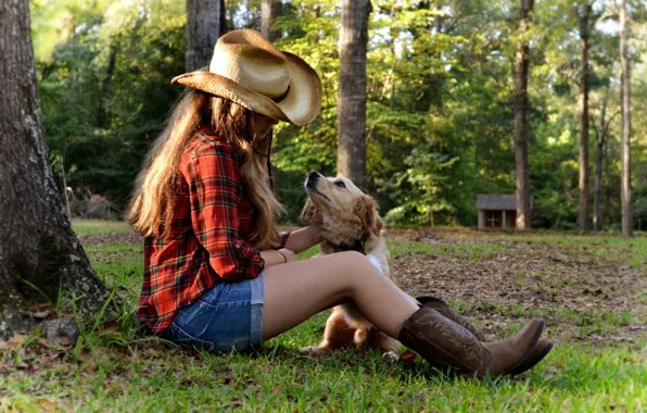
<path id="1" fill-rule="evenodd" d="M 599 226 L 620 229 L 620 57 L 614 2 L 592 1 L 589 188 L 601 155 Z M 532 226 L 578 228 L 581 32 L 572 1 L 537 1 L 530 45 Z M 515 193 L 517 1 L 371 1 L 367 53 L 367 189 L 395 225 L 477 225 L 478 193 Z M 226 29 L 261 29 L 261 1 L 225 3 Z M 182 88 L 185 2 L 33 0 L 45 137 L 73 215 L 119 217 L 143 157 Z M 629 2 L 634 228 L 647 228 L 647 8 Z M 309 171 L 334 175 L 338 1 L 283 2 L 281 49 L 321 76 L 321 114 L 281 124 L 272 162 L 286 223 Z M 67 188 L 65 191 L 63 188 Z M 586 202 L 593 204 L 593 193 Z M 589 209 L 593 211 L 593 208 Z"/>

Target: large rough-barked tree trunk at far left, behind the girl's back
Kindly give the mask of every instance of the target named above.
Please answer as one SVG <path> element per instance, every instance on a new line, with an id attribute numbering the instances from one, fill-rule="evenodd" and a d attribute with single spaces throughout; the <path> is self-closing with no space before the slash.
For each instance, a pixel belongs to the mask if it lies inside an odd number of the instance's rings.
<path id="1" fill-rule="evenodd" d="M 1 338 L 34 326 L 29 304 L 42 296 L 79 298 L 81 315 L 110 296 L 72 230 L 48 163 L 29 24 L 27 0 L 0 2 Z"/>

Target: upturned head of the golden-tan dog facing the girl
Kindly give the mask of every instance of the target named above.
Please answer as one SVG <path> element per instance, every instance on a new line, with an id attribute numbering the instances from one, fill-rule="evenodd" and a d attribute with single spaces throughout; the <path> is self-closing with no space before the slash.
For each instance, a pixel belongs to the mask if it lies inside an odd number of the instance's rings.
<path id="1" fill-rule="evenodd" d="M 330 178 L 310 172 L 305 180 L 305 191 L 308 199 L 302 220 L 319 225 L 325 237 L 332 242 L 359 239 L 368 230 L 379 236 L 384 227 L 376 200 L 359 190 L 351 179 Z"/>

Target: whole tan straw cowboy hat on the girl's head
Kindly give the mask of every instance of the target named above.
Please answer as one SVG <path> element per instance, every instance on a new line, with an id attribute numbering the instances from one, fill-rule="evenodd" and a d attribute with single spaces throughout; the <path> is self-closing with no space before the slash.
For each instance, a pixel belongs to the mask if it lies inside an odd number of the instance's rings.
<path id="1" fill-rule="evenodd" d="M 277 49 L 258 32 L 223 35 L 208 67 L 175 77 L 185 85 L 269 117 L 305 125 L 321 109 L 321 80 L 301 58 Z"/>

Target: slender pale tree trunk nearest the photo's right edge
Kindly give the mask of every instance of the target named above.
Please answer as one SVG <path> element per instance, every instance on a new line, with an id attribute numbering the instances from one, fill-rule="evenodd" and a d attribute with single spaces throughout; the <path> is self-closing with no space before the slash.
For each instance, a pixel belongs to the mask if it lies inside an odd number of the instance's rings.
<path id="1" fill-rule="evenodd" d="M 622 176 L 620 178 L 620 198 L 622 208 L 622 236 L 634 236 L 634 210 L 632 205 L 632 108 L 631 108 L 631 67 L 626 51 L 626 0 L 620 3 L 620 78 L 622 107 L 622 138 L 620 140 L 620 162 Z"/>

